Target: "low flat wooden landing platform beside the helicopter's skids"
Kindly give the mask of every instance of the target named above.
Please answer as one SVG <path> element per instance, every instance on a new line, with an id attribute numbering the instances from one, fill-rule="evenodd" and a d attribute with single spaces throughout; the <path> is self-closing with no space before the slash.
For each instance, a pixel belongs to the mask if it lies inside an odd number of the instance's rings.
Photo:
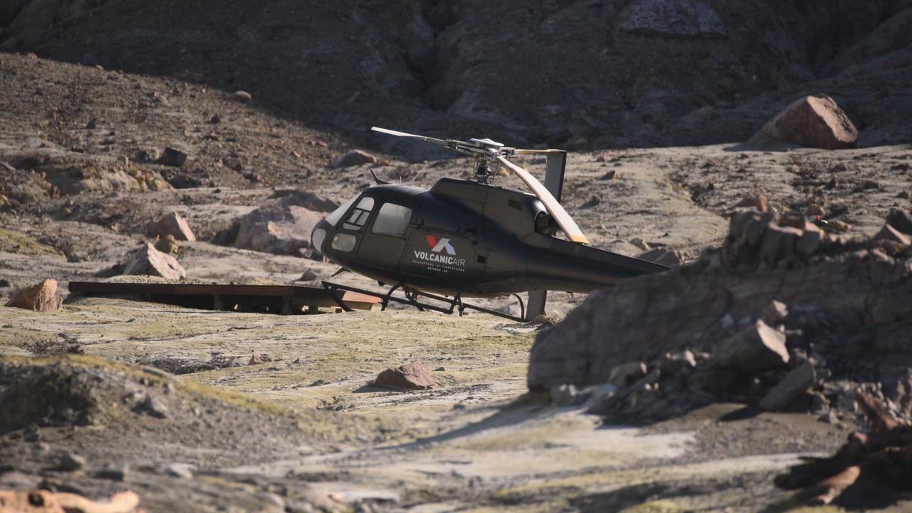
<path id="1" fill-rule="evenodd" d="M 276 314 L 319 313 L 320 308 L 342 311 L 324 288 L 298 285 L 210 285 L 196 283 L 69 282 L 70 296 L 129 296 L 191 309 Z M 351 309 L 369 310 L 379 298 L 345 292 Z"/>

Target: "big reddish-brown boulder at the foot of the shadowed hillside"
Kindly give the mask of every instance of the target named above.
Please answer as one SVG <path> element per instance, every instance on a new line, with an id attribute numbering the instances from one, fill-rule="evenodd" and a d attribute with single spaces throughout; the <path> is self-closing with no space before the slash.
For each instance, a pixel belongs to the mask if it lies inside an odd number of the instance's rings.
<path id="1" fill-rule="evenodd" d="M 748 144 L 791 143 L 842 150 L 855 146 L 858 131 L 834 99 L 819 94 L 795 100 L 755 133 Z"/>

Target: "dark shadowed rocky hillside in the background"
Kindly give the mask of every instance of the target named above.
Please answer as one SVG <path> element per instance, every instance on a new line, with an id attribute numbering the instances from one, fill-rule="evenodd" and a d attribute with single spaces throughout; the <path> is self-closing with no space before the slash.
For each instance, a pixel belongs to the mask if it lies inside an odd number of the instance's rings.
<path id="1" fill-rule="evenodd" d="M 570 149 L 746 141 L 816 92 L 876 145 L 912 136 L 910 23 L 908 0 L 3 0 L 0 48 L 244 89 L 375 147 L 393 142 L 372 124 Z"/>

